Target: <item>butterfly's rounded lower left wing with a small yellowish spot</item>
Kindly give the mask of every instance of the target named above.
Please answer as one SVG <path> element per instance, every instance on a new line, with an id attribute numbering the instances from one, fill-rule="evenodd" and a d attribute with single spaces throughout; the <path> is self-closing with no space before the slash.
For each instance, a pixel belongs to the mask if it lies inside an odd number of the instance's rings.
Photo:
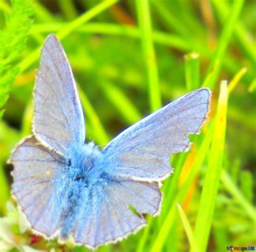
<path id="1" fill-rule="evenodd" d="M 9 163 L 15 166 L 13 194 L 33 229 L 52 236 L 57 230 L 63 205 L 64 186 L 60 175 L 67 164 L 34 137 L 23 140 Z"/>

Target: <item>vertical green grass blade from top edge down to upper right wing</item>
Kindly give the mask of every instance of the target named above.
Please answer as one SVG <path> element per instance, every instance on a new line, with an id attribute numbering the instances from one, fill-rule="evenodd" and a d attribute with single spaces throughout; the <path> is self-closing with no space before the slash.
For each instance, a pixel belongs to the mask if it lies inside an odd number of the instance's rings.
<path id="1" fill-rule="evenodd" d="M 154 52 L 151 18 L 148 0 L 136 0 L 137 16 L 141 30 L 141 43 L 143 47 L 143 57 L 146 65 L 149 85 L 149 104 L 151 110 L 161 107 L 161 93 L 158 81 L 158 66 L 156 64 L 156 54 Z"/>

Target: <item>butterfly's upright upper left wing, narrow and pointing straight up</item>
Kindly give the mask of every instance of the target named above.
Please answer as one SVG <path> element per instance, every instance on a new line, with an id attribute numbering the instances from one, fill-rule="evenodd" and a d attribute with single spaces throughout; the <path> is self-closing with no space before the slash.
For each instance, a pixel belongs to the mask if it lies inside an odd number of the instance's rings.
<path id="1" fill-rule="evenodd" d="M 74 77 L 61 43 L 49 35 L 41 52 L 34 92 L 33 131 L 62 154 L 84 143 L 84 117 Z M 56 140 L 57 139 L 57 140 Z"/>

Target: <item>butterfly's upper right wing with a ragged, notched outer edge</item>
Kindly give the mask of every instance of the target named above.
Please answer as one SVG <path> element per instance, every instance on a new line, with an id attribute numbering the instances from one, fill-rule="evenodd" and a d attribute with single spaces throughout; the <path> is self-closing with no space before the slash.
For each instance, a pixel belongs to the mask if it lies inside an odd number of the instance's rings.
<path id="1" fill-rule="evenodd" d="M 103 150 L 112 175 L 140 181 L 160 181 L 170 175 L 170 155 L 190 148 L 189 135 L 209 112 L 211 92 L 197 89 L 135 123 Z"/>

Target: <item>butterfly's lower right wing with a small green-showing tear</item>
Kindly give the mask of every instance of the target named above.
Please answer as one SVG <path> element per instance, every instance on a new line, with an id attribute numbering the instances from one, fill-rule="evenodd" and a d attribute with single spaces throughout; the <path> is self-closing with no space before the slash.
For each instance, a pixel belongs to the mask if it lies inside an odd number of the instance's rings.
<path id="1" fill-rule="evenodd" d="M 161 191 L 158 183 L 138 182 L 107 176 L 104 185 L 93 188 L 73 231 L 76 243 L 96 248 L 115 242 L 146 224 L 139 213 L 158 214 Z"/>

